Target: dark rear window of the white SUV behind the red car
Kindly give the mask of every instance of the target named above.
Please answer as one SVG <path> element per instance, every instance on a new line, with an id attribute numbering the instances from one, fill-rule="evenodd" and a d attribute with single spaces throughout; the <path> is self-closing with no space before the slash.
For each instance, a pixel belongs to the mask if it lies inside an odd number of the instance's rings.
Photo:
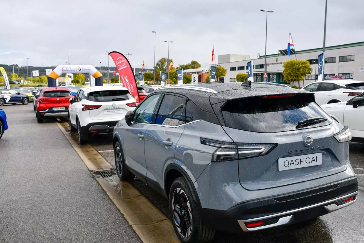
<path id="1" fill-rule="evenodd" d="M 126 101 L 133 98 L 128 90 L 101 90 L 88 94 L 89 101 L 110 102 L 110 101 Z"/>

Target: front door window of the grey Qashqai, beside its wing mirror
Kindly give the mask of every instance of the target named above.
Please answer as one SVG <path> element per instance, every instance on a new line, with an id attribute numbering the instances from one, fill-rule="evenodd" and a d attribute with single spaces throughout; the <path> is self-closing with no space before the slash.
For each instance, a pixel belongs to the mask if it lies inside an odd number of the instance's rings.
<path id="1" fill-rule="evenodd" d="M 141 105 L 135 110 L 134 113 L 134 122 L 139 123 L 152 123 L 154 114 L 155 105 L 157 105 L 158 99 L 161 95 L 151 95 L 143 100 Z"/>

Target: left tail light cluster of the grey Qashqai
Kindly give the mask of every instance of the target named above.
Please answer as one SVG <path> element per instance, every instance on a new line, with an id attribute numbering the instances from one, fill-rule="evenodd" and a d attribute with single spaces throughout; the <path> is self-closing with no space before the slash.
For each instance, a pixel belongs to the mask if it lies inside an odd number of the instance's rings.
<path id="1" fill-rule="evenodd" d="M 229 161 L 263 156 L 272 151 L 277 144 L 238 144 L 200 138 L 201 144 L 216 147 L 211 161 Z"/>

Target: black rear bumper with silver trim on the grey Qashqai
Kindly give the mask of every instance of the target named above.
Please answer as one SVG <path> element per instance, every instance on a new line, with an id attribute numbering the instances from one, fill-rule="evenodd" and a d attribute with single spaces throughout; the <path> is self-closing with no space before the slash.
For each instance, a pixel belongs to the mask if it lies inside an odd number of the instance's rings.
<path id="1" fill-rule="evenodd" d="M 217 230 L 263 230 L 303 222 L 351 205 L 356 202 L 357 190 L 357 179 L 351 178 L 306 191 L 244 202 L 225 211 L 201 208 L 201 217 L 207 227 Z M 354 198 L 344 201 L 350 197 Z M 246 226 L 252 223 L 258 225 Z"/>

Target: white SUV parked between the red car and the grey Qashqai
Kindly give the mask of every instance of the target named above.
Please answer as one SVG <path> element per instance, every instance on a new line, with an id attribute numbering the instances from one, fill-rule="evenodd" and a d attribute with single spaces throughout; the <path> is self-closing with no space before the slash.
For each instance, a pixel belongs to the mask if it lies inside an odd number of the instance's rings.
<path id="1" fill-rule="evenodd" d="M 78 132 L 80 144 L 86 143 L 91 134 L 112 133 L 116 123 L 137 106 L 122 86 L 83 87 L 70 103 L 70 131 Z"/>

